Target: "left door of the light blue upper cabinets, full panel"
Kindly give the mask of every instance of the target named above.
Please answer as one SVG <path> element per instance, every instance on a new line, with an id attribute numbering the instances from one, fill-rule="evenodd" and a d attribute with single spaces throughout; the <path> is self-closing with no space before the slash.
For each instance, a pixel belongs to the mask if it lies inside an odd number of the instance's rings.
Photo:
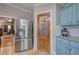
<path id="1" fill-rule="evenodd" d="M 72 6 L 67 6 L 61 10 L 61 25 L 72 24 Z"/>

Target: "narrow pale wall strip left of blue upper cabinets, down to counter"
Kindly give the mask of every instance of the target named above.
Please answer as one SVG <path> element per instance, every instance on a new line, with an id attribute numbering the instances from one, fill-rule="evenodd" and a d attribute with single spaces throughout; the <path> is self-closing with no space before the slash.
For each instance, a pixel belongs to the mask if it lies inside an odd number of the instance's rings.
<path id="1" fill-rule="evenodd" d="M 61 20 L 60 20 L 60 12 L 63 7 L 59 4 L 56 4 L 56 36 L 60 36 L 61 31 Z"/>

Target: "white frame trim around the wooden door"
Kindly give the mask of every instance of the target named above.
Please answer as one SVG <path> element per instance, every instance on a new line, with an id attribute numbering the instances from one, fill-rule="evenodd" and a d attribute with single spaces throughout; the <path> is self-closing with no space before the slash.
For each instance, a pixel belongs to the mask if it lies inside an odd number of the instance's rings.
<path id="1" fill-rule="evenodd" d="M 52 10 L 46 10 L 46 11 L 40 11 L 40 12 L 37 12 L 37 13 L 35 13 L 35 21 L 36 21 L 36 26 L 37 26 L 37 16 L 39 15 L 39 14 L 43 14 L 43 13 L 47 13 L 47 12 L 49 12 L 50 13 L 50 51 L 49 51 L 49 53 L 52 51 L 52 42 L 51 42 L 51 35 L 52 35 Z M 37 27 L 36 27 L 36 31 L 37 31 Z M 36 32 L 36 46 L 37 46 L 37 40 L 38 40 L 38 37 L 37 37 L 37 32 Z M 37 47 L 36 47 L 36 49 L 38 49 Z"/>

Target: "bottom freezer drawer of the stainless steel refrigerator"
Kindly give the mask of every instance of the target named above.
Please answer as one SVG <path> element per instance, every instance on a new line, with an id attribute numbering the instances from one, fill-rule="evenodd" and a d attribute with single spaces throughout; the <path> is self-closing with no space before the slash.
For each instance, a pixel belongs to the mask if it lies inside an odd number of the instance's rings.
<path id="1" fill-rule="evenodd" d="M 24 51 L 32 48 L 32 39 L 21 39 L 15 42 L 16 51 Z"/>

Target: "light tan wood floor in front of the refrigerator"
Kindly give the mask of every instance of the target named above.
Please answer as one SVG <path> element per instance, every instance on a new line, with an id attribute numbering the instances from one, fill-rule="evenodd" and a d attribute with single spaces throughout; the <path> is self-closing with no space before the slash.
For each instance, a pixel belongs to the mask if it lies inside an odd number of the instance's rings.
<path id="1" fill-rule="evenodd" d="M 0 55 L 49 55 L 49 54 L 43 51 L 33 49 L 15 53 L 14 46 L 8 46 L 0 48 Z"/>

